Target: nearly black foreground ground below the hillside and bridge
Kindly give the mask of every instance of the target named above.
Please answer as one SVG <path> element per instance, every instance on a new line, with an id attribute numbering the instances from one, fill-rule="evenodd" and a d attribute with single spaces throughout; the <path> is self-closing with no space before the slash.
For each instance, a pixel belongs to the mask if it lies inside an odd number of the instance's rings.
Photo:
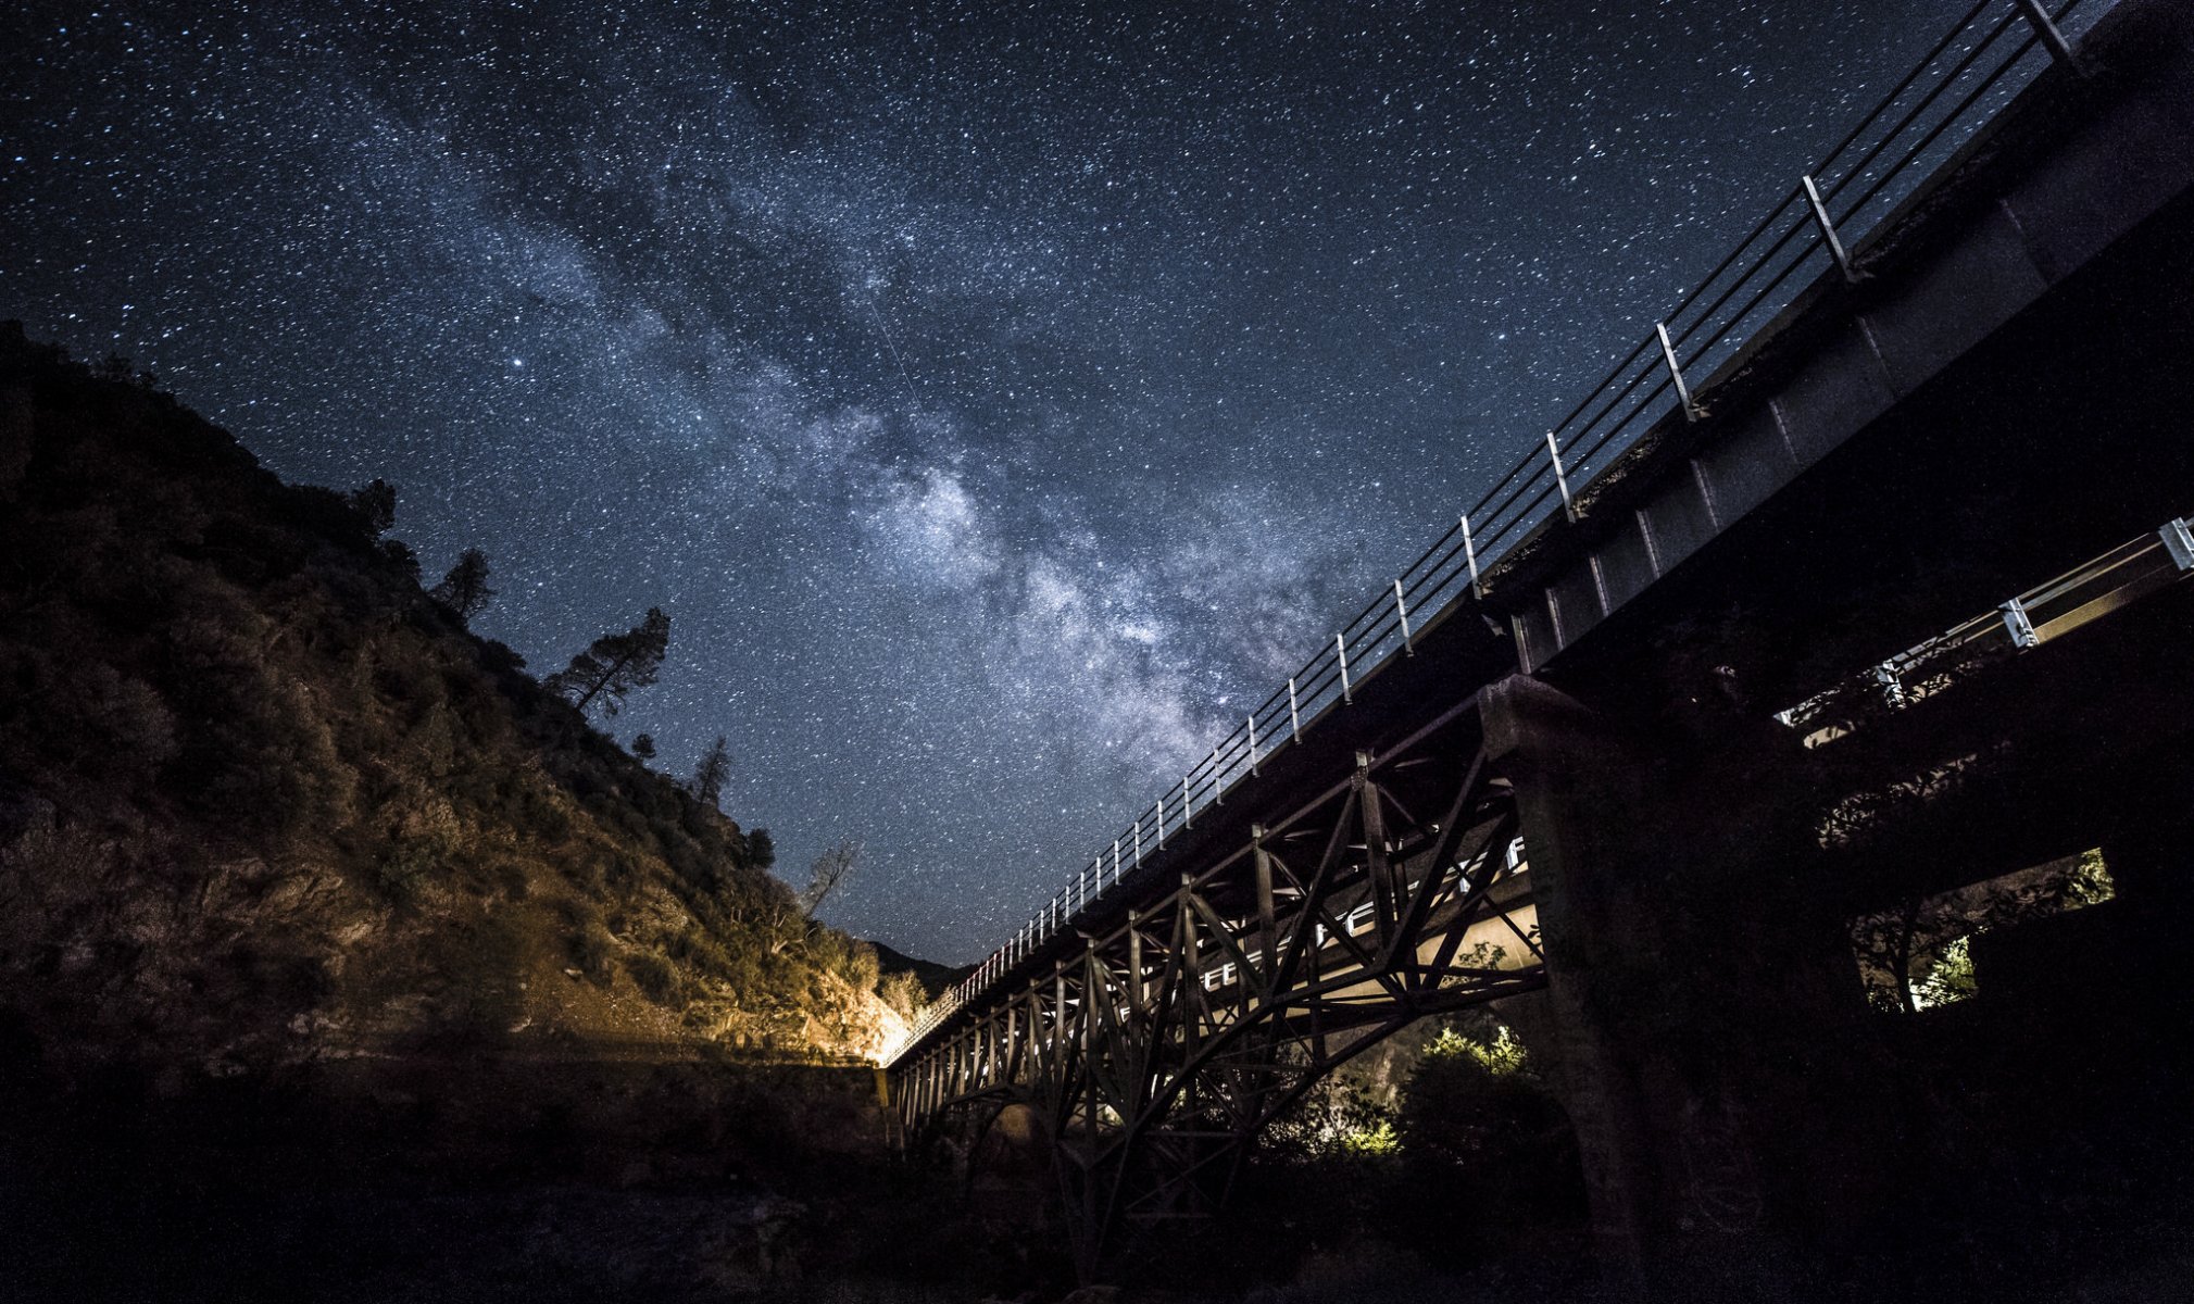
<path id="1" fill-rule="evenodd" d="M 1253 1170 L 1220 1218 L 1126 1245 L 1121 1284 L 1077 1293 L 1049 1174 L 1005 1164 L 965 1183 L 893 1161 L 867 1069 L 474 1058 L 459 1071 L 421 1054 L 178 1089 L 121 1067 L 64 1080 L 15 1045 L 0 1089 L 9 1304 L 1641 1297 L 1593 1267 L 1560 1192 L 1523 1218 L 1485 1183 L 1393 1155 Z M 1659 1295 L 2187 1297 L 2194 1232 L 2176 1205 L 2113 1203 L 2108 1172 L 2091 1177 L 2102 1185 L 2029 1210 L 2056 1236 L 1981 1203 L 1922 1201 L 1933 1227 L 1871 1256 L 1705 1240 L 1676 1251 Z"/>

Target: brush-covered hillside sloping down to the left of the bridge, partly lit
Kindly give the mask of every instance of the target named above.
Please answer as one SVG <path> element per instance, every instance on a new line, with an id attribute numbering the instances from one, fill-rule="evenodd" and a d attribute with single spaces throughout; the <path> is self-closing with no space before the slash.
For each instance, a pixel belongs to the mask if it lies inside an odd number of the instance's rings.
<path id="1" fill-rule="evenodd" d="M 0 327 L 11 1034 L 173 1084 L 465 1047 L 884 1049 L 908 1001 L 878 997 L 875 951 L 470 634 L 382 525 L 127 367 Z"/>

